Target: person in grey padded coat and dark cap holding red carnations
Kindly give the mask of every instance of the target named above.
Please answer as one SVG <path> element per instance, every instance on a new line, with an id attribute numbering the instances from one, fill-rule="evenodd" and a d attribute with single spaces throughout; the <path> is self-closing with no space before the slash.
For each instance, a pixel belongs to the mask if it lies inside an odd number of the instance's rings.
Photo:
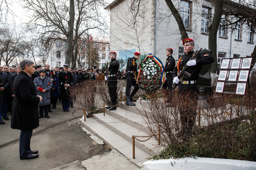
<path id="1" fill-rule="evenodd" d="M 34 79 L 34 84 L 37 89 L 37 95 L 42 96 L 42 101 L 39 102 L 39 119 L 41 119 L 42 117 L 50 118 L 48 115 L 48 107 L 50 106 L 50 90 L 52 89 L 53 83 L 52 80 L 46 76 L 46 71 L 44 69 L 39 70 L 39 74 L 40 75 Z"/>

